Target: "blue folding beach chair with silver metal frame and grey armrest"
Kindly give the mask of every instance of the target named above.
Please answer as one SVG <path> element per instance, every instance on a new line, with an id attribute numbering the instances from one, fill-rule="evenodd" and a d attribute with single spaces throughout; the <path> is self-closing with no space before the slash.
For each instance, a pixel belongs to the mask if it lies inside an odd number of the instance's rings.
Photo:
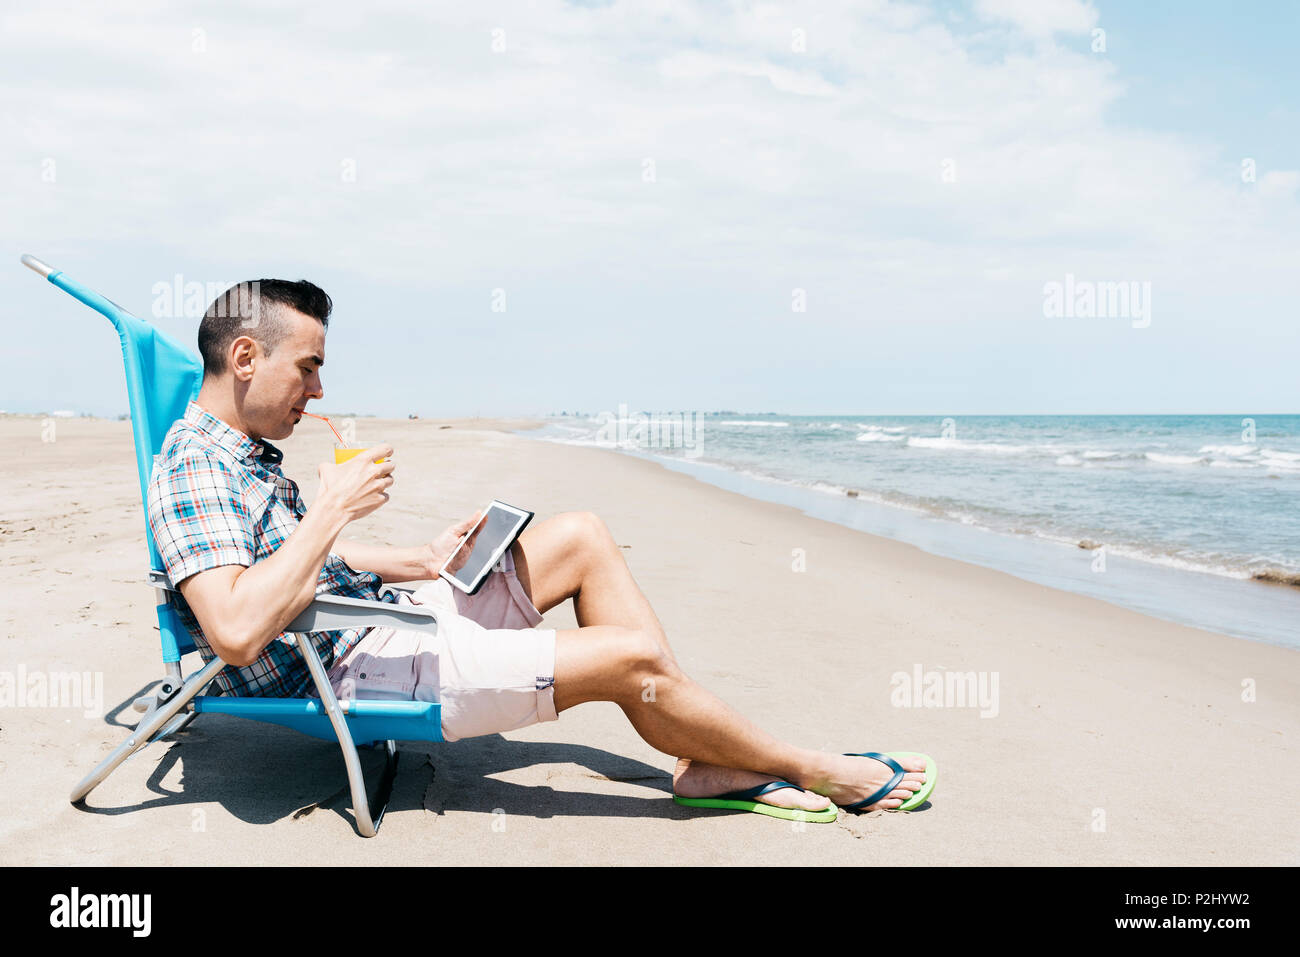
<path id="1" fill-rule="evenodd" d="M 157 596 L 159 632 L 162 636 L 162 667 L 165 677 L 151 694 L 135 700 L 135 710 L 143 711 L 139 724 L 112 754 L 101 761 L 73 789 L 72 802 L 79 804 L 108 775 L 135 752 L 185 728 L 200 714 L 229 714 L 259 722 L 283 724 L 312 737 L 338 741 L 347 766 L 347 779 L 352 792 L 356 830 L 363 837 L 373 837 L 384 818 L 393 779 L 396 775 L 396 741 L 441 741 L 441 705 L 425 701 L 339 701 L 325 675 L 325 666 L 309 641 L 298 641 L 298 649 L 307 661 L 307 668 L 316 684 L 320 698 L 238 698 L 204 696 L 200 692 L 226 667 L 213 658 L 190 674 L 181 670 L 182 657 L 196 651 L 176 607 L 179 596 L 168 580 L 148 528 L 147 492 L 153 458 L 162 447 L 162 439 L 172 423 L 185 415 L 190 399 L 199 394 L 203 364 L 196 355 L 164 335 L 148 322 L 130 315 L 122 307 L 98 293 L 68 278 L 62 272 L 46 265 L 34 256 L 23 256 L 22 263 L 44 276 L 49 282 L 108 317 L 117 328 L 122 342 L 122 360 L 126 364 L 126 391 L 130 398 L 131 426 L 135 433 L 135 464 L 140 473 L 140 505 L 144 508 L 144 540 L 150 550 L 151 584 Z M 391 585 L 385 588 L 394 592 Z M 437 633 L 437 616 L 429 609 L 415 605 L 370 602 L 339 596 L 317 596 L 316 599 L 285 629 L 290 635 L 343 628 L 390 625 Z M 365 778 L 356 748 L 382 742 L 386 750 L 384 771 L 376 787 L 374 798 L 367 794 Z"/>

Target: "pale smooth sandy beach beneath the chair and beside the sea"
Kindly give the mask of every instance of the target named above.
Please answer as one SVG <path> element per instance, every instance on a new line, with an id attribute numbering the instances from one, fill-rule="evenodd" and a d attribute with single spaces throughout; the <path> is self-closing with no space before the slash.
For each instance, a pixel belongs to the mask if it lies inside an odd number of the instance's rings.
<path id="1" fill-rule="evenodd" d="M 358 419 L 393 499 L 346 537 L 432 540 L 491 498 L 599 515 L 693 679 L 767 731 L 939 766 L 911 814 L 803 824 L 671 801 L 673 755 L 611 703 L 454 745 L 407 742 L 356 836 L 337 745 L 203 715 L 94 791 L 161 677 L 130 423 L 0 417 L 0 672 L 101 676 L 0 707 L 0 852 L 36 865 L 1295 865 L 1300 653 L 1150 618 L 526 421 Z M 321 423 L 276 442 L 311 503 Z M 543 627 L 575 627 L 569 605 Z M 192 670 L 191 655 L 186 670 Z M 975 689 L 975 694 L 954 694 Z M 935 693 L 928 693 L 933 690 Z M 380 754 L 363 752 L 376 770 Z"/>

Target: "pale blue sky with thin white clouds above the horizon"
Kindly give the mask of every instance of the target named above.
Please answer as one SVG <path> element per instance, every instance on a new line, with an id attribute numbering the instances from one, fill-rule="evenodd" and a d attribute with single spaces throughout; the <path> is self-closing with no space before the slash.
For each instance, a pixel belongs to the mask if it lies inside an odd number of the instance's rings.
<path id="1" fill-rule="evenodd" d="M 316 282 L 325 413 L 1296 412 L 1296 35 L 1258 1 L 9 4 L 0 408 L 126 410 L 30 252 L 191 347 L 194 290 Z"/>

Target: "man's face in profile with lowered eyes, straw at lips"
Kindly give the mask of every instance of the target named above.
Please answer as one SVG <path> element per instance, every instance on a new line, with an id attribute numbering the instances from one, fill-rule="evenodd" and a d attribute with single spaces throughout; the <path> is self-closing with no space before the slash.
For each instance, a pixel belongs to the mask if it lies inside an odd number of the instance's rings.
<path id="1" fill-rule="evenodd" d="M 290 333 L 270 355 L 257 345 L 244 393 L 244 417 L 252 438 L 287 438 L 302 421 L 307 402 L 325 395 L 320 373 L 325 364 L 325 326 L 287 306 L 280 309 Z M 259 434 L 254 436 L 252 429 Z"/>

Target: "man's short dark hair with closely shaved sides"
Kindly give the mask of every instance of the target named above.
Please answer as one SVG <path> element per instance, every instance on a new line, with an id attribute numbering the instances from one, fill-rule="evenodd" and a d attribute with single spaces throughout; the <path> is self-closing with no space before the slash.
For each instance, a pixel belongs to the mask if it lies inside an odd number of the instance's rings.
<path id="1" fill-rule="evenodd" d="M 299 280 L 254 280 L 237 282 L 212 300 L 199 324 L 199 355 L 203 356 L 203 376 L 217 376 L 226 371 L 226 352 L 240 335 L 256 339 L 266 355 L 289 335 L 283 306 L 318 319 L 329 329 L 329 313 L 334 302 L 320 286 Z"/>

